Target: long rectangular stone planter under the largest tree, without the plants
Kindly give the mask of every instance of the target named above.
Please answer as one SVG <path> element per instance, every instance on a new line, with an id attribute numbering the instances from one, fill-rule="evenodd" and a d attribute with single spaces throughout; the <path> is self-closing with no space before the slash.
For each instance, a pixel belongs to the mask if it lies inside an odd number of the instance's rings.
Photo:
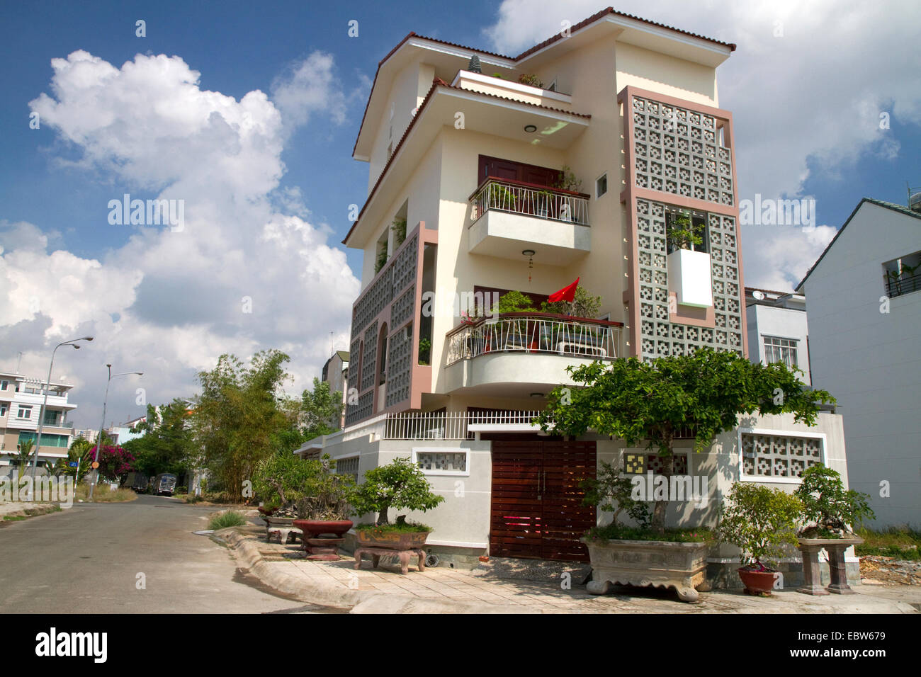
<path id="1" fill-rule="evenodd" d="M 705 582 L 706 543 L 668 541 L 592 541 L 589 547 L 591 582 L 588 590 L 603 595 L 612 585 L 673 588 L 681 601 L 697 601 Z"/>

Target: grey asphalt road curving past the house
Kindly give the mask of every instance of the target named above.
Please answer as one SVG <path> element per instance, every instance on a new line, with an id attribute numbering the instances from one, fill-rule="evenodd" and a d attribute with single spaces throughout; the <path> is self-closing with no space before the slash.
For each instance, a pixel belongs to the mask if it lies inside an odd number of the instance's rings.
<path id="1" fill-rule="evenodd" d="M 0 526 L 0 613 L 322 613 L 237 570 L 207 515 L 166 496 Z M 143 587 L 141 586 L 143 582 Z"/>

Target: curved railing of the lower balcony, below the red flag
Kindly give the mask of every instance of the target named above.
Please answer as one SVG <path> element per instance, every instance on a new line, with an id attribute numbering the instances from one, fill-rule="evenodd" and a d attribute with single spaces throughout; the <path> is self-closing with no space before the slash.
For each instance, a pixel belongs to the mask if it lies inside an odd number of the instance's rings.
<path id="1" fill-rule="evenodd" d="M 542 312 L 511 312 L 448 333 L 447 365 L 487 353 L 551 353 L 613 359 L 623 324 Z"/>

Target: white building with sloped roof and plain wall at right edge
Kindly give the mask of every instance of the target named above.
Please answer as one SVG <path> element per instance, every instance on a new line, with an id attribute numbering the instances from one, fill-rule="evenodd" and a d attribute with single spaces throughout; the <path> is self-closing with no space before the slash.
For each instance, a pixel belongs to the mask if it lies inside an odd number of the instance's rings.
<path id="1" fill-rule="evenodd" d="M 797 287 L 812 381 L 837 398 L 850 485 L 877 526 L 921 526 L 919 264 L 921 211 L 865 197 Z"/>

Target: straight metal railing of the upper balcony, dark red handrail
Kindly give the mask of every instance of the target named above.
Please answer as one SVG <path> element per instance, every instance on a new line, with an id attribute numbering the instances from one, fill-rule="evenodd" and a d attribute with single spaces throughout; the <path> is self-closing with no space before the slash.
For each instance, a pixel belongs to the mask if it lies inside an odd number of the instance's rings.
<path id="1" fill-rule="evenodd" d="M 589 225 L 589 196 L 585 193 L 489 177 L 470 199 L 473 221 L 492 209 L 579 226 Z"/>

